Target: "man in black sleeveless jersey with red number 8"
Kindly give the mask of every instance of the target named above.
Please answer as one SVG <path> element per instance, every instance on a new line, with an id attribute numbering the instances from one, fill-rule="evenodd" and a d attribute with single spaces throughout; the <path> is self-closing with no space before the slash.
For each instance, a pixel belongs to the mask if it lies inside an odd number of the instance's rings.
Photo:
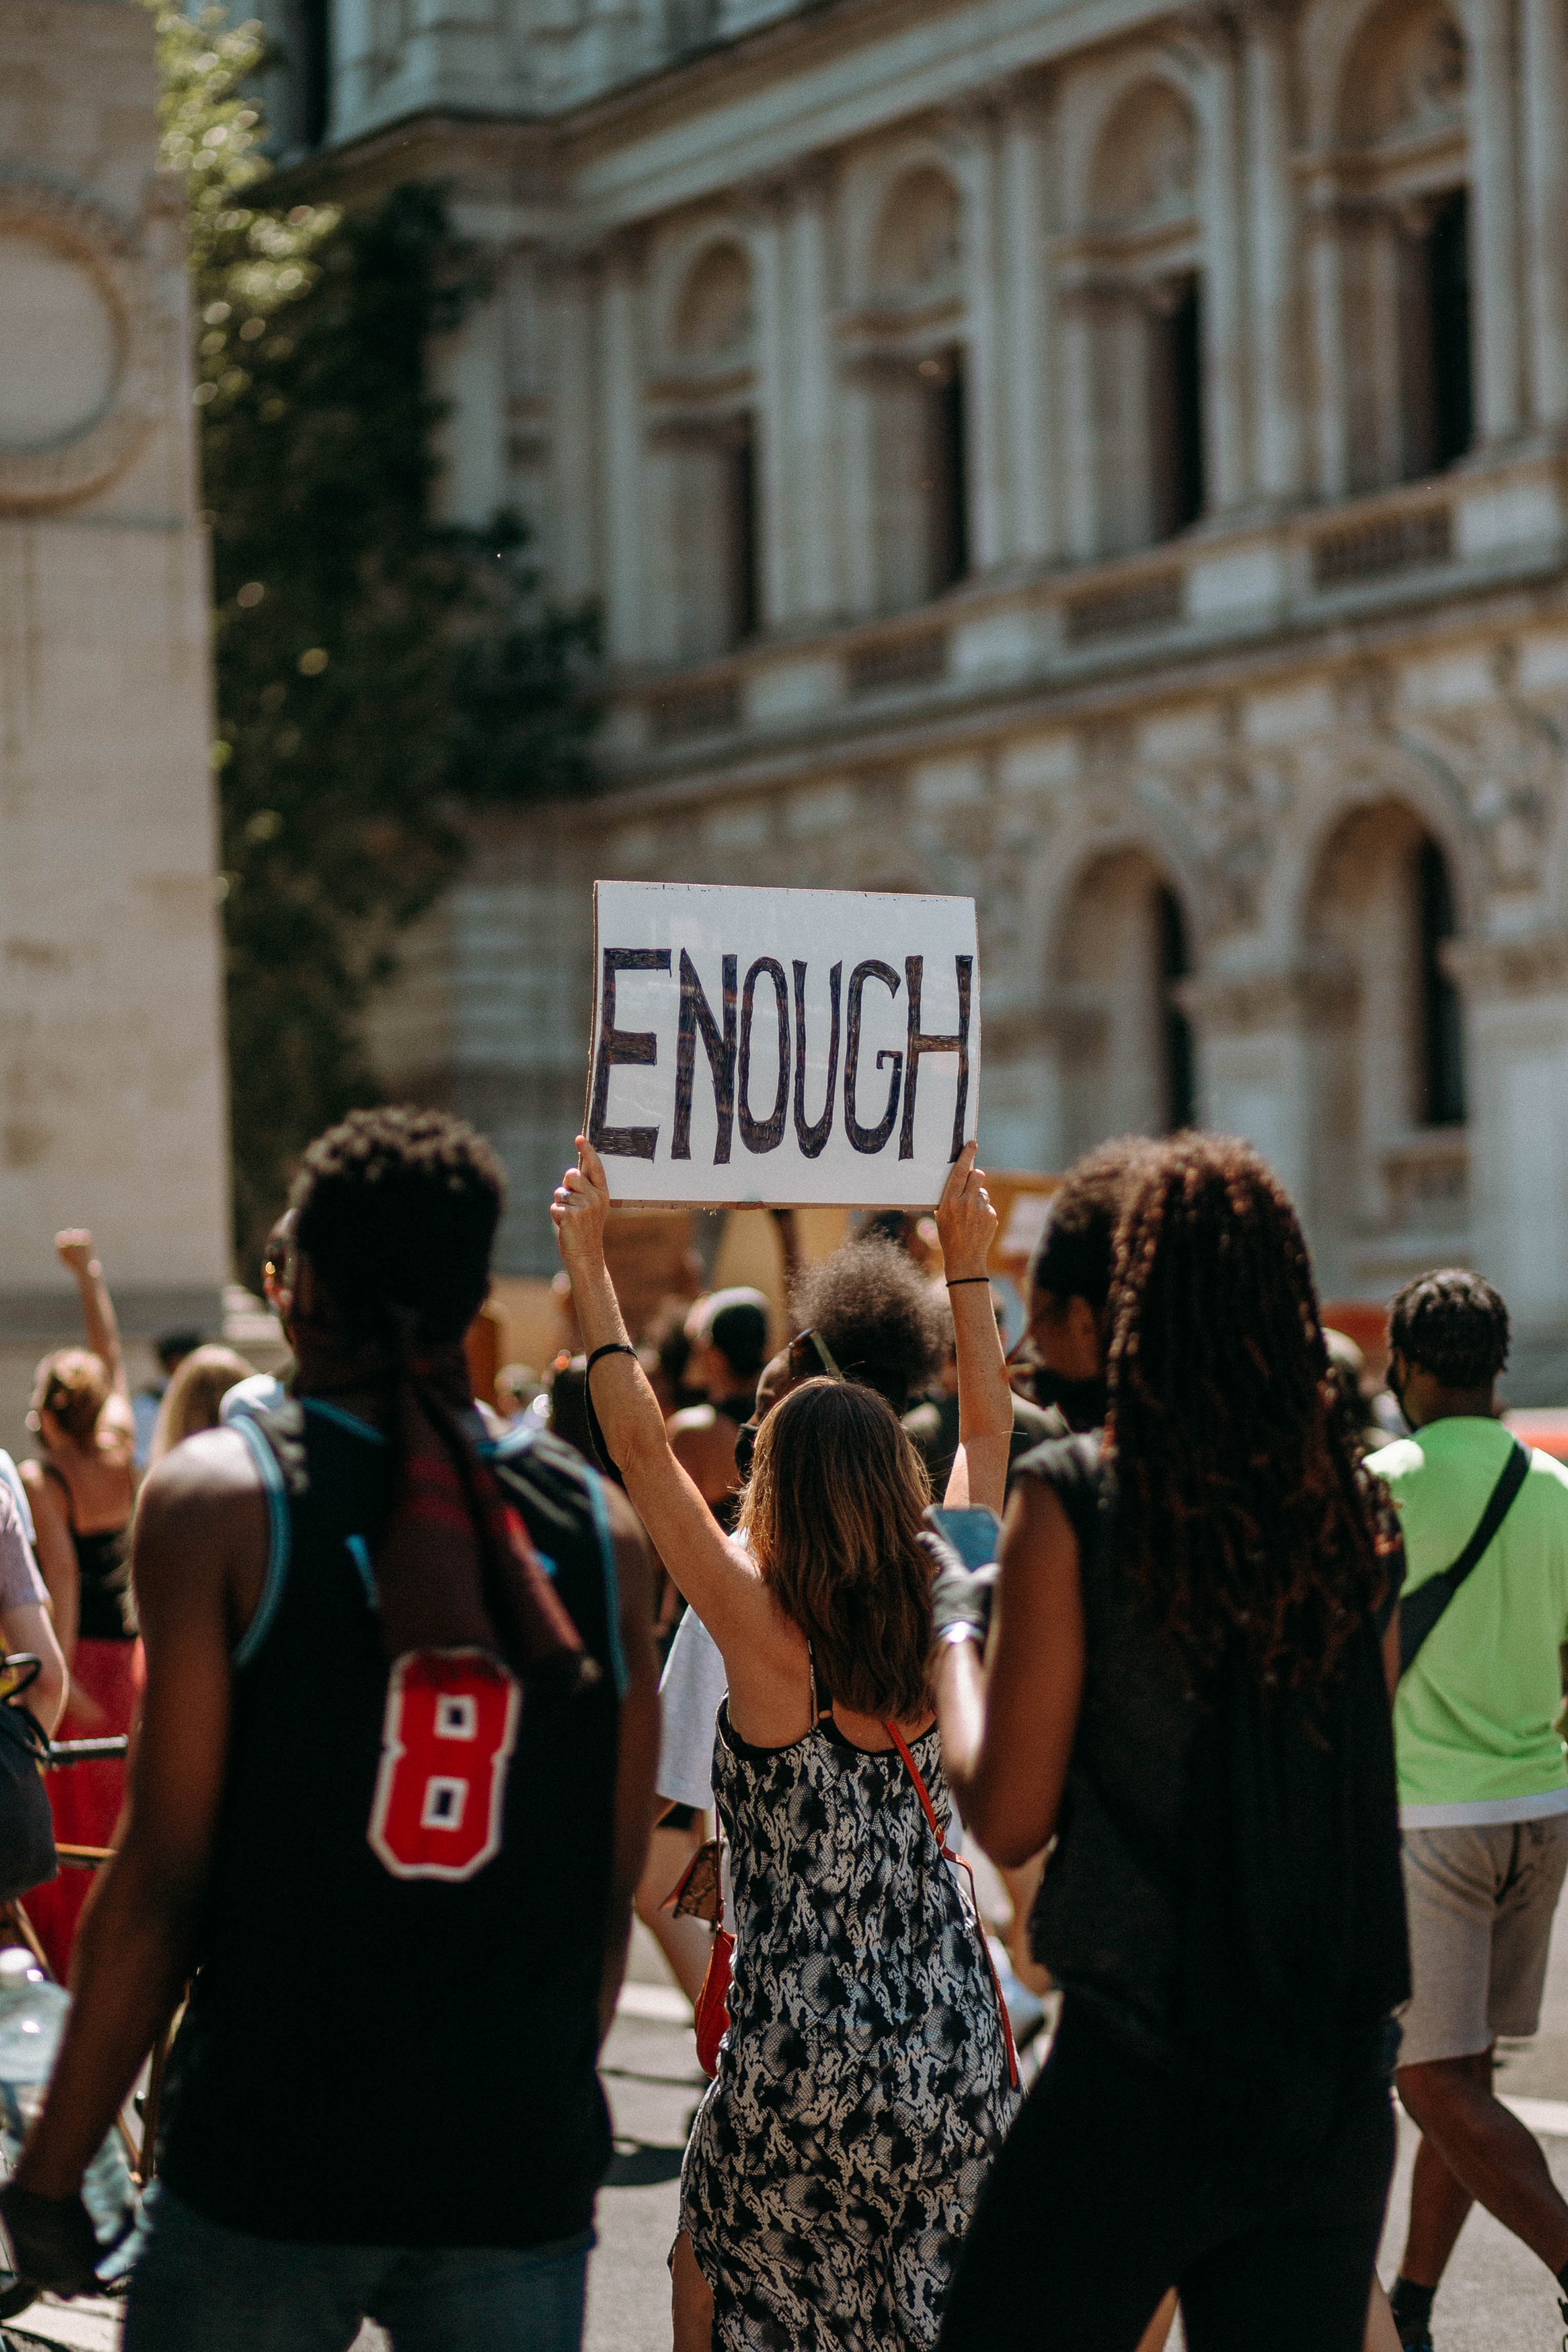
<path id="1" fill-rule="evenodd" d="M 341 2352 L 362 2317 L 571 2352 L 658 1745 L 646 1552 L 559 1439 L 482 1439 L 473 1129 L 355 1112 L 294 1207 L 294 1402 L 141 1494 L 129 1816 L 2 2213 L 24 2277 L 87 2286 L 82 2171 L 190 1983 L 127 2352 Z"/>

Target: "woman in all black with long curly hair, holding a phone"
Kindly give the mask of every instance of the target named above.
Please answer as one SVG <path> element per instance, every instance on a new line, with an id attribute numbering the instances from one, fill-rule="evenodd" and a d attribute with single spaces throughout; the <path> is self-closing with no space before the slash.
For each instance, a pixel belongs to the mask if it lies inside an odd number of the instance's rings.
<path id="1" fill-rule="evenodd" d="M 1056 1837 L 1065 1990 L 943 2352 L 1133 2352 L 1171 2286 L 1190 2352 L 1359 2352 L 1408 1992 L 1389 1571 L 1246 1143 L 1152 1148 L 1107 1329 L 1105 1430 L 1025 1458 L 994 1581 L 933 1588 L 947 1776 L 1001 1863 Z"/>

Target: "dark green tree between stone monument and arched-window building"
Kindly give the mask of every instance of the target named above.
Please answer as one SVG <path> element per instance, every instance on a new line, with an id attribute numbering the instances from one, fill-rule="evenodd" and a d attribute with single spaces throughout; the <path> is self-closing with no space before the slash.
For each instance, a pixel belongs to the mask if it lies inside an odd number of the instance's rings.
<path id="1" fill-rule="evenodd" d="M 585 614 L 510 517 L 430 520 L 425 353 L 484 292 L 442 198 L 261 202 L 256 24 L 150 0 L 162 158 L 188 188 L 214 560 L 235 1237 L 301 1145 L 376 1096 L 362 1016 L 463 863 L 465 807 L 585 781 Z"/>

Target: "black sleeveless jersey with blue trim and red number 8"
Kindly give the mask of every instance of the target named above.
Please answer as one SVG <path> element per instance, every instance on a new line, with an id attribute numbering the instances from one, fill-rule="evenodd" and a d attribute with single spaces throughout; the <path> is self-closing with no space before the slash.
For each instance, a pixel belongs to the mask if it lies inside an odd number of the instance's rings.
<path id="1" fill-rule="evenodd" d="M 273 1552 L 235 1653 L 223 1816 L 160 2173 L 209 2220 L 273 2239 L 574 2237 L 609 2164 L 595 2056 L 625 1686 L 597 1479 L 543 1430 L 496 1446 L 508 1501 L 602 1675 L 571 1696 L 529 1691 L 510 1764 L 484 1703 L 477 1717 L 470 1700 L 449 1703 L 440 1740 L 430 1724 L 421 1733 L 425 1764 L 447 1743 L 444 1773 L 428 1776 L 407 1710 L 407 1748 L 390 1762 L 383 1748 L 390 1675 L 371 1557 L 390 1444 L 308 1404 L 308 1491 L 289 1498 L 266 1423 L 235 1428 L 268 1486 Z M 381 1846 L 400 1846 L 395 1780 L 416 1764 L 414 1837 L 421 1804 L 430 1825 L 496 1797 L 484 1818 L 498 1851 L 468 1877 L 397 1875 L 371 1849 L 371 1813 Z"/>

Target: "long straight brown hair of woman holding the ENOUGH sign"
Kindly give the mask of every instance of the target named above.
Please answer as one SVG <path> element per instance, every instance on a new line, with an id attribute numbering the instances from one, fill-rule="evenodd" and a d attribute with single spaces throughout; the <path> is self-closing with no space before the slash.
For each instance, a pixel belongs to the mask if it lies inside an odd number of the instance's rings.
<path id="1" fill-rule="evenodd" d="M 741 1531 L 818 1682 L 858 1715 L 931 1705 L 931 1564 L 914 1543 L 926 1468 L 891 1404 L 851 1381 L 804 1381 L 762 1423 Z"/>

